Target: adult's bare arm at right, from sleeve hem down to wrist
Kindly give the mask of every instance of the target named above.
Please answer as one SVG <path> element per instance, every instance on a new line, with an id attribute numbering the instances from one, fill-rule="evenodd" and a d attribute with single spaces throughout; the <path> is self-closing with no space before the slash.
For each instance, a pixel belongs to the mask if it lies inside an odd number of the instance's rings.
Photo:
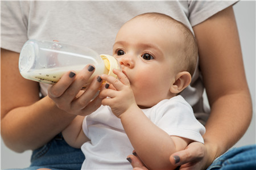
<path id="1" fill-rule="evenodd" d="M 245 133 L 251 121 L 251 97 L 233 8 L 218 12 L 193 29 L 211 107 L 204 135 L 209 165 Z"/>

